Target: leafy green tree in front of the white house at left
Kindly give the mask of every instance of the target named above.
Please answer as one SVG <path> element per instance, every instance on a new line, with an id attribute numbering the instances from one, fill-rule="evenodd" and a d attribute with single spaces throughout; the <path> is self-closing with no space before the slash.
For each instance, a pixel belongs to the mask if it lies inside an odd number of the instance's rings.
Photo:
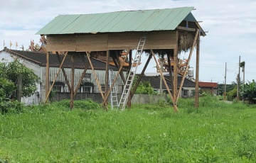
<path id="1" fill-rule="evenodd" d="M 17 89 L 18 74 L 22 75 L 22 96 L 31 96 L 36 91 L 36 83 L 38 83 L 39 77 L 36 76 L 33 69 L 28 69 L 28 67 L 21 64 L 20 60 L 15 59 L 9 63 L 2 62 L 0 72 L 1 79 L 6 83 L 6 85 L 2 85 L 5 96 L 13 94 L 14 90 Z"/>

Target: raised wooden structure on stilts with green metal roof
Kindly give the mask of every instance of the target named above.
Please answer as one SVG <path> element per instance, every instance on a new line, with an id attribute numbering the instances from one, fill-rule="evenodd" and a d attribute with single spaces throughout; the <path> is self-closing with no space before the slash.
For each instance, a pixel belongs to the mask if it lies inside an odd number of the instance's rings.
<path id="1" fill-rule="evenodd" d="M 198 68 L 199 68 L 199 36 L 206 35 L 201 26 L 199 26 L 196 18 L 193 17 L 191 11 L 193 7 L 183 7 L 176 9 L 156 9 L 145 11 L 119 11 L 113 13 L 95 13 L 95 14 L 82 14 L 82 15 L 64 15 L 58 16 L 53 21 L 48 23 L 45 27 L 38 31 L 37 34 L 47 36 L 47 50 L 46 55 L 48 61 L 48 55 L 50 52 L 55 52 L 58 57 L 58 52 L 65 52 L 65 56 L 70 55 L 73 67 L 75 67 L 75 57 L 80 56 L 84 60 L 87 67 L 92 68 L 93 65 L 90 62 L 93 52 L 103 52 L 106 58 L 105 69 L 105 91 L 100 90 L 102 99 L 104 99 L 103 106 L 107 108 L 107 99 L 110 94 L 112 86 L 108 85 L 109 81 L 109 64 L 110 57 L 115 61 L 114 64 L 119 68 L 117 75 L 121 75 L 125 83 L 123 63 L 119 60 L 119 54 L 123 50 L 129 51 L 129 67 L 132 67 L 132 50 L 137 48 L 138 42 L 143 33 L 146 33 L 146 43 L 144 44 L 144 51 L 148 53 L 148 60 L 144 66 L 144 69 L 134 86 L 134 89 L 130 92 L 129 101 L 139 85 L 146 67 L 149 64 L 151 57 L 156 62 L 156 67 L 159 69 L 159 64 L 156 60 L 155 54 L 168 55 L 174 58 L 174 70 L 170 71 L 170 77 L 173 81 L 174 89 L 169 90 L 164 77 L 160 71 L 161 77 L 164 80 L 169 96 L 174 103 L 174 111 L 178 111 L 176 102 L 178 100 L 178 94 L 180 90 L 177 90 L 177 74 L 178 74 L 178 53 L 183 50 L 191 50 L 191 54 L 188 57 L 188 64 L 192 55 L 193 48 L 197 47 L 198 60 L 196 62 L 196 83 L 198 84 Z M 182 39 L 182 35 L 189 35 L 191 40 Z M 188 37 L 186 37 L 188 38 Z M 85 57 L 87 56 L 87 57 Z M 60 69 L 65 71 L 62 67 L 65 58 L 60 60 Z M 144 61 L 142 61 L 144 62 Z M 187 64 L 187 65 L 188 65 Z M 171 64 L 169 64 L 171 65 Z M 49 85 L 49 71 L 46 64 L 46 90 L 48 95 L 52 86 Z M 85 68 L 85 72 L 86 72 Z M 188 70 L 186 67 L 185 72 Z M 127 71 L 127 70 L 126 70 Z M 59 70 L 60 72 L 60 70 Z M 82 74 L 81 79 L 83 78 Z M 186 74 L 186 73 L 184 73 Z M 77 92 L 74 86 L 74 77 L 71 75 L 71 79 L 65 79 L 67 83 L 70 80 L 70 107 L 73 108 L 74 95 Z M 183 76 L 183 80 L 185 75 Z M 95 76 L 97 81 L 97 77 Z M 54 83 L 55 81 L 53 81 Z M 97 82 L 98 83 L 98 82 Z M 183 83 L 183 82 L 182 82 Z M 99 86 L 100 87 L 100 86 Z M 181 86 L 182 87 L 182 86 Z M 46 95 L 46 99 L 48 99 Z M 196 102 L 198 106 L 198 102 Z"/>

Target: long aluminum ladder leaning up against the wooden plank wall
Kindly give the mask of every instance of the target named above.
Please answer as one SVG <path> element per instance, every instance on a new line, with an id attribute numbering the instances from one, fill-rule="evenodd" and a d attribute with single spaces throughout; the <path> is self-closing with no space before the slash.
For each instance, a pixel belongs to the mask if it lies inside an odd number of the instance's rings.
<path id="1" fill-rule="evenodd" d="M 145 45 L 145 42 L 146 42 L 146 33 L 143 33 L 142 37 L 139 40 L 139 44 L 137 46 L 137 52 L 136 52 L 136 55 L 135 55 L 134 60 L 132 62 L 131 69 L 129 70 L 127 81 L 125 82 L 124 90 L 122 91 L 121 99 L 118 103 L 118 109 L 122 109 L 122 111 L 124 111 L 124 108 L 127 104 L 129 93 L 132 89 L 132 83 L 133 83 L 133 80 L 134 80 L 134 77 L 135 77 L 135 73 L 137 71 L 137 67 L 138 67 L 138 65 L 141 61 L 141 58 L 142 58 L 142 50 L 143 50 L 143 47 Z M 136 65 L 136 66 L 133 66 L 133 65 Z"/>

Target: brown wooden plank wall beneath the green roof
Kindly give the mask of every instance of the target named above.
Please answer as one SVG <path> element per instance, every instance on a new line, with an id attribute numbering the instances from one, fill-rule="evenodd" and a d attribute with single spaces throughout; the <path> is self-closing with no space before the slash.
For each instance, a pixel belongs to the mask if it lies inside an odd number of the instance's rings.
<path id="1" fill-rule="evenodd" d="M 48 35 L 47 50 L 49 52 L 135 50 L 141 35 L 141 32 Z M 176 31 L 152 31 L 147 33 L 144 50 L 174 49 L 176 44 Z"/>

